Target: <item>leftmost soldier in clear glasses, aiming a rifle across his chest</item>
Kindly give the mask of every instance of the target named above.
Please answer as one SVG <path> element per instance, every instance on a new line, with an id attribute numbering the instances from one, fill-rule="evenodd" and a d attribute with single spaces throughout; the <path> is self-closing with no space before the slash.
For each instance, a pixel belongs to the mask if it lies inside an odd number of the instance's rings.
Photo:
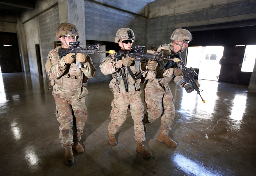
<path id="1" fill-rule="evenodd" d="M 87 119 L 85 95 L 88 94 L 88 90 L 82 83 L 95 75 L 95 67 L 88 55 L 76 54 L 77 61 L 83 65 L 83 68 L 79 69 L 76 68 L 75 58 L 72 57 L 75 53 L 69 53 L 62 58 L 58 56 L 58 50 L 68 48 L 69 42 L 76 41 L 77 37 L 75 25 L 61 23 L 56 38 L 60 39 L 62 45 L 49 52 L 45 65 L 50 85 L 53 86 L 52 95 L 56 103 L 56 117 L 60 122 L 60 143 L 65 149 L 67 165 L 74 163 L 72 148 L 77 153 L 84 152 L 79 141 Z"/>

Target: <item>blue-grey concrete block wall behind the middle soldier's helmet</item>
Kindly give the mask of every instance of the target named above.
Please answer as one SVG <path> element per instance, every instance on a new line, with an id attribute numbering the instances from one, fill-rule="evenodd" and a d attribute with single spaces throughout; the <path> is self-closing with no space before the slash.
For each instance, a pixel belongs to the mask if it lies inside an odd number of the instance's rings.
<path id="1" fill-rule="evenodd" d="M 138 1 L 129 1 L 126 6 L 122 4 L 123 1 L 116 0 L 115 2 L 116 3 L 112 2 L 111 4 L 132 10 L 134 4 L 137 6 Z M 145 1 L 142 2 L 145 3 Z M 119 28 L 128 27 L 131 28 L 135 34 L 135 45 L 144 45 L 146 43 L 145 29 L 147 27 L 147 18 L 140 15 L 142 14 L 140 10 L 134 9 L 134 11 L 138 13 L 137 15 L 115 8 L 115 6 L 106 6 L 96 1 L 87 0 L 84 1 L 84 6 L 87 40 L 114 42 L 116 31 Z"/>

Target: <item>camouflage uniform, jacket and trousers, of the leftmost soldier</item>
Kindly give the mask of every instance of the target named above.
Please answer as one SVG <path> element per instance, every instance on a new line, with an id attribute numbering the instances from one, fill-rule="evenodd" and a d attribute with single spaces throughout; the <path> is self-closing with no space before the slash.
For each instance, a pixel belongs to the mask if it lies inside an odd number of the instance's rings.
<path id="1" fill-rule="evenodd" d="M 50 68 L 46 73 L 49 75 L 50 84 L 53 85 L 56 117 L 60 122 L 60 143 L 63 147 L 70 147 L 74 142 L 80 141 L 83 133 L 87 119 L 85 95 L 88 90 L 82 83 L 83 80 L 85 83 L 87 78 L 94 77 L 95 67 L 88 55 L 83 68 L 77 69 L 76 63 L 66 64 L 63 57 L 58 57 L 59 48 L 61 47 L 49 52 L 45 68 Z"/>

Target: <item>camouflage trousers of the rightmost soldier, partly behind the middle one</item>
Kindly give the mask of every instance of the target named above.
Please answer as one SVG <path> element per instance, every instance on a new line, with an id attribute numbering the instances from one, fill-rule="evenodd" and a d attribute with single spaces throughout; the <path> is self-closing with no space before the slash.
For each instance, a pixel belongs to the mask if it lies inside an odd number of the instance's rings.
<path id="1" fill-rule="evenodd" d="M 169 86 L 167 85 L 163 88 L 157 82 L 148 82 L 144 90 L 145 102 L 148 109 L 145 116 L 148 116 L 149 122 L 152 123 L 161 116 L 164 108 L 160 133 L 168 135 L 172 129 L 172 122 L 175 115 L 173 97 Z"/>

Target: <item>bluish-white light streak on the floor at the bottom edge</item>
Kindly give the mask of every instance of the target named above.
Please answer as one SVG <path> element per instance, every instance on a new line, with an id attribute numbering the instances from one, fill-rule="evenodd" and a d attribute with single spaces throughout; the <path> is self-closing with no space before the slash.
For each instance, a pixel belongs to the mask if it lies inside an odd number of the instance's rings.
<path id="1" fill-rule="evenodd" d="M 216 171 L 210 171 L 210 169 L 205 168 L 203 164 L 192 161 L 187 157 L 175 154 L 172 158 L 173 162 L 188 175 L 196 175 L 196 176 L 220 176 L 221 174 Z"/>

